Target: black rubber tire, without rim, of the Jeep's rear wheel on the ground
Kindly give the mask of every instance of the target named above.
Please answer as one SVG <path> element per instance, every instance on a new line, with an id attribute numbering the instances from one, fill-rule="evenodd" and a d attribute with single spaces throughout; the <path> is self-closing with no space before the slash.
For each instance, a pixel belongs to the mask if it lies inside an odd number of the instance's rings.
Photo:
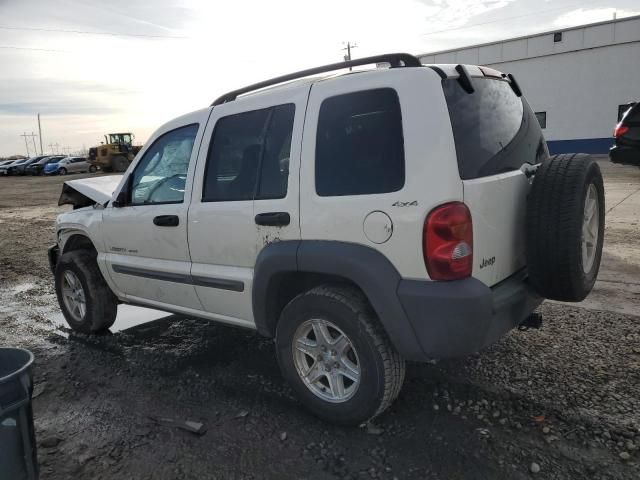
<path id="1" fill-rule="evenodd" d="M 341 403 L 317 396 L 296 369 L 292 345 L 296 330 L 315 318 L 336 325 L 357 353 L 360 383 L 355 393 Z M 282 375 L 298 399 L 314 415 L 332 423 L 360 425 L 376 417 L 393 403 L 404 381 L 404 360 L 389 341 L 366 297 L 353 287 L 319 286 L 289 302 L 277 326 L 276 349 Z"/>

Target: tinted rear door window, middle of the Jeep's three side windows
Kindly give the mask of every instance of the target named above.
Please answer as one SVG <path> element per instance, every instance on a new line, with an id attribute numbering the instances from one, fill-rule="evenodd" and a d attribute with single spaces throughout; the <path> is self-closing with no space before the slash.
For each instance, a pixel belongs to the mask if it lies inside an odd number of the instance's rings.
<path id="1" fill-rule="evenodd" d="M 295 105 L 219 119 L 207 155 L 203 202 L 284 198 Z"/>

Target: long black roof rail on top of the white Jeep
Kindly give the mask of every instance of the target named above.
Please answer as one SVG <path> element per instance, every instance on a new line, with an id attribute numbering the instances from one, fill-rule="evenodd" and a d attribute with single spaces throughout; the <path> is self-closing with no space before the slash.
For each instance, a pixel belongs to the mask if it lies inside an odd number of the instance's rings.
<path id="1" fill-rule="evenodd" d="M 296 80 L 298 78 L 308 77 L 310 75 L 317 75 L 318 73 L 332 72 L 334 70 L 342 70 L 350 67 L 359 67 L 361 65 L 371 65 L 374 63 L 389 63 L 392 68 L 395 67 L 421 67 L 422 63 L 417 57 L 408 53 L 387 53 L 384 55 L 375 55 L 373 57 L 358 58 L 356 60 L 349 60 L 346 62 L 332 63 L 329 65 L 323 65 L 322 67 L 309 68 L 307 70 L 301 70 L 299 72 L 290 73 L 288 75 L 282 75 L 281 77 L 271 78 L 263 82 L 254 83 L 238 90 L 233 90 L 229 93 L 225 93 L 221 97 L 217 98 L 211 106 L 221 105 L 223 103 L 232 102 L 238 95 L 244 93 L 253 92 L 254 90 L 260 90 L 261 88 L 277 85 L 278 83 L 288 82 L 290 80 Z"/>

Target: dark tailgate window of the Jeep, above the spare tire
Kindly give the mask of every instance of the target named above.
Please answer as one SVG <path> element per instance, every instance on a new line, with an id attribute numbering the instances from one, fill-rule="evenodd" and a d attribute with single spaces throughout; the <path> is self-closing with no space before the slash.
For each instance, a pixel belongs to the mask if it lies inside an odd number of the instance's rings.
<path id="1" fill-rule="evenodd" d="M 548 150 L 526 100 L 507 81 L 475 77 L 467 93 L 457 79 L 442 87 L 449 108 L 460 178 L 487 177 L 536 164 Z"/>

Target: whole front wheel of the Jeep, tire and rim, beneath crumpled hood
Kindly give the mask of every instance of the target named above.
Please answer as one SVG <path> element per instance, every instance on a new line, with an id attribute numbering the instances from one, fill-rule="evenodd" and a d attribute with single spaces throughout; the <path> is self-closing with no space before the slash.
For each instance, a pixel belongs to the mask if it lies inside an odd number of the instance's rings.
<path id="1" fill-rule="evenodd" d="M 60 309 L 72 330 L 98 333 L 115 322 L 118 300 L 91 252 L 63 254 L 56 265 L 55 286 Z"/>

